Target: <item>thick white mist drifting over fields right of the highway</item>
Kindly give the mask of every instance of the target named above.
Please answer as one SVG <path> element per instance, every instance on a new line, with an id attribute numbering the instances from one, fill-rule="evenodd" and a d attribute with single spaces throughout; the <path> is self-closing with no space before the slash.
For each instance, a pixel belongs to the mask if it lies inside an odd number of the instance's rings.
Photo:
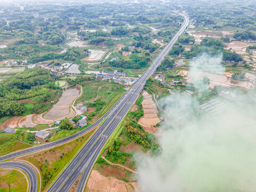
<path id="1" fill-rule="evenodd" d="M 221 55 L 203 54 L 190 62 L 190 73 L 196 81 L 202 80 L 198 71 L 221 73 L 221 60 Z M 204 83 L 197 87 L 206 89 Z M 255 90 L 221 99 L 214 115 L 198 109 L 200 95 L 161 100 L 169 116 L 158 135 L 161 155 L 137 157 L 140 191 L 255 191 Z"/>

